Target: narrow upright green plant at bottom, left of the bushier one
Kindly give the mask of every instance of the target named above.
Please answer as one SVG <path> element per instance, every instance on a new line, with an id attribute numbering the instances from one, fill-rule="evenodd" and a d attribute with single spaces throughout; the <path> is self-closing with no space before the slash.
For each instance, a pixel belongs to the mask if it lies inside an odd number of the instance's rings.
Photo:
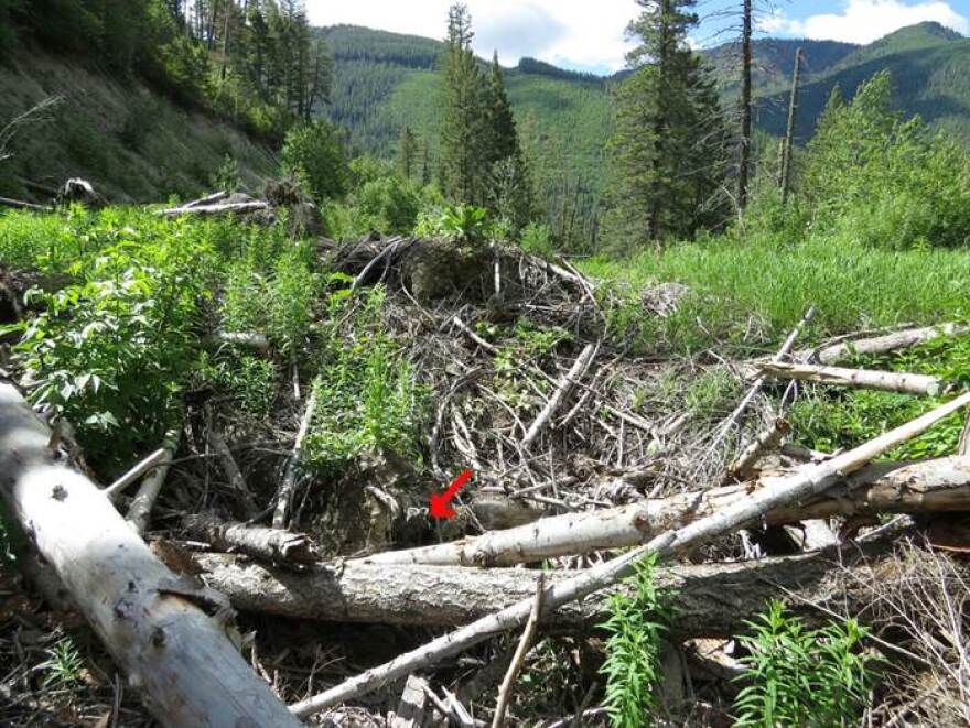
<path id="1" fill-rule="evenodd" d="M 600 672 L 606 677 L 604 704 L 615 728 L 642 728 L 653 724 L 658 705 L 653 688 L 660 677 L 660 651 L 671 618 L 669 595 L 654 580 L 656 557 L 637 564 L 625 584 L 630 596 L 610 596 L 610 619 L 602 628 L 610 635 L 606 660 Z"/>

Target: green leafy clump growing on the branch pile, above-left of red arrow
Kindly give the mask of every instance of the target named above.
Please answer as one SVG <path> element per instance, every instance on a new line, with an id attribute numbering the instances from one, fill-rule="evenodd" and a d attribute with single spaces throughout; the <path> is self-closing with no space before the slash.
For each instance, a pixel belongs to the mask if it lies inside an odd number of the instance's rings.
<path id="1" fill-rule="evenodd" d="M 420 457 L 417 442 L 427 391 L 398 346 L 380 330 L 382 306 L 381 289 L 331 294 L 332 328 L 314 384 L 317 409 L 305 444 L 306 465 L 320 472 L 338 472 L 368 452 Z M 353 322 L 349 336 L 335 327 L 347 317 Z"/>

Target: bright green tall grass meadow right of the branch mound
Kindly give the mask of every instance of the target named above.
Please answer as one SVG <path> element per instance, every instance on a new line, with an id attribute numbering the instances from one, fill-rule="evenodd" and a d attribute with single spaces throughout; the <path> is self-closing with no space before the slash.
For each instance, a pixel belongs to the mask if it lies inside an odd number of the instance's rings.
<path id="1" fill-rule="evenodd" d="M 777 341 L 810 305 L 819 312 L 815 336 L 970 315 L 967 250 L 890 251 L 821 237 L 799 245 L 767 236 L 740 242 L 728 236 L 580 267 L 630 293 L 667 281 L 687 285 L 678 313 L 650 332 L 675 347 Z"/>

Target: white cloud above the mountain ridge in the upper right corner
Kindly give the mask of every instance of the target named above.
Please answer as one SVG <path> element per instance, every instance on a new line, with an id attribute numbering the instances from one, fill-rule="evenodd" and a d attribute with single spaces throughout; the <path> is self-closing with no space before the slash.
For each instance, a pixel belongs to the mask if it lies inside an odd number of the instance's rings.
<path id="1" fill-rule="evenodd" d="M 864 44 L 925 21 L 936 21 L 963 34 L 970 32 L 970 21 L 953 10 L 949 2 L 940 0 L 916 3 L 903 0 L 848 0 L 839 13 L 794 20 L 776 11 L 765 15 L 759 25 L 766 33 Z"/>

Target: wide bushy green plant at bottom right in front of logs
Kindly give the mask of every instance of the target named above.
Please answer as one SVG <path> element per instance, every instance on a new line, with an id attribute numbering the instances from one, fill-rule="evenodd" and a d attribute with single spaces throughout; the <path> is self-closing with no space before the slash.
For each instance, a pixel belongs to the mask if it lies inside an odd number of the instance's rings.
<path id="1" fill-rule="evenodd" d="M 874 682 L 872 656 L 861 652 L 865 629 L 854 619 L 809 630 L 772 601 L 740 638 L 748 655 L 734 703 L 743 727 L 853 726 Z"/>

